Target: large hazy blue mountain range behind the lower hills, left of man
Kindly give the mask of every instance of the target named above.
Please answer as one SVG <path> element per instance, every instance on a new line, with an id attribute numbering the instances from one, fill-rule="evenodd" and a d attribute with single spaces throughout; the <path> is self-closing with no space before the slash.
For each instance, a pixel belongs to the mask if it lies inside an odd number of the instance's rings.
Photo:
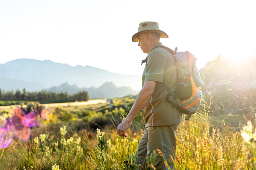
<path id="1" fill-rule="evenodd" d="M 28 91 L 40 91 L 65 82 L 79 88 L 100 87 L 105 82 L 132 89 L 141 88 L 141 76 L 121 75 L 91 66 L 72 67 L 49 60 L 18 59 L 0 64 L 0 78 L 5 81 L 0 84 L 3 90 L 26 88 Z"/>

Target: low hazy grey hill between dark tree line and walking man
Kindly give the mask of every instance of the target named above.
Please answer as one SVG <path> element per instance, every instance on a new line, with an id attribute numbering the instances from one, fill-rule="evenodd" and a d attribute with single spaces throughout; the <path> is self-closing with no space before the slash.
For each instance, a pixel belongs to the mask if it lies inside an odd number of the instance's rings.
<path id="1" fill-rule="evenodd" d="M 88 91 L 90 98 L 116 98 L 130 94 L 138 94 L 138 90 L 132 90 L 130 87 L 117 87 L 112 82 L 106 82 L 99 88 L 79 88 L 76 85 L 68 85 L 68 83 L 61 84 L 60 86 L 45 89 L 46 91 L 62 92 L 66 91 L 68 94 L 77 93 L 79 91 Z"/>

